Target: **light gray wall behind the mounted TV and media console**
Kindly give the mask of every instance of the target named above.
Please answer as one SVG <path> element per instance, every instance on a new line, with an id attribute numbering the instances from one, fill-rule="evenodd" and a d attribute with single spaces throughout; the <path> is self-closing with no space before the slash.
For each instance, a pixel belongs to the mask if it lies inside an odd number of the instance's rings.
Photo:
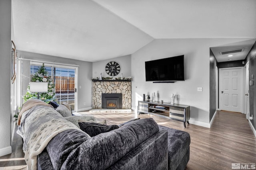
<path id="1" fill-rule="evenodd" d="M 172 93 L 176 103 L 190 106 L 190 123 L 208 127 L 209 124 L 209 56 L 210 47 L 246 39 L 155 39 L 131 56 L 132 107 L 142 94 L 158 93 L 157 100 L 170 102 Z M 145 61 L 184 55 L 185 81 L 152 83 L 145 79 Z M 202 87 L 202 92 L 197 92 Z"/>

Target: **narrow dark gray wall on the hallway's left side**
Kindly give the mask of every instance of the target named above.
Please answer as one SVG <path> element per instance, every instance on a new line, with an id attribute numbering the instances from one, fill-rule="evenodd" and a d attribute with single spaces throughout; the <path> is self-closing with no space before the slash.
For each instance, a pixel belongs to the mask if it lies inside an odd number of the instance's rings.
<path id="1" fill-rule="evenodd" d="M 217 60 L 210 49 L 210 121 L 216 111 L 216 66 Z"/>

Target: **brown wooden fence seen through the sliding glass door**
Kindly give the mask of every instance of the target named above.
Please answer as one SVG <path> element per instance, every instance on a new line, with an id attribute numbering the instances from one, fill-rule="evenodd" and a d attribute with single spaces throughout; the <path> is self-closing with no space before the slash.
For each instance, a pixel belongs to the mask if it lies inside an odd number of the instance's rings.
<path id="1" fill-rule="evenodd" d="M 55 89 L 56 93 L 68 90 L 75 90 L 75 78 L 74 77 L 64 77 L 55 76 Z"/>

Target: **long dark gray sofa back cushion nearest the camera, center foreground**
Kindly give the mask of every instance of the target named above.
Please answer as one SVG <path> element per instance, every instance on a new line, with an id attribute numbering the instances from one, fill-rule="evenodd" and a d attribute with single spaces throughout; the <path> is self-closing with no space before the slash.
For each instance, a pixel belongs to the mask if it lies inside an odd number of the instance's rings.
<path id="1" fill-rule="evenodd" d="M 62 168 L 107 169 L 158 131 L 152 118 L 132 121 L 82 143 L 69 154 Z"/>

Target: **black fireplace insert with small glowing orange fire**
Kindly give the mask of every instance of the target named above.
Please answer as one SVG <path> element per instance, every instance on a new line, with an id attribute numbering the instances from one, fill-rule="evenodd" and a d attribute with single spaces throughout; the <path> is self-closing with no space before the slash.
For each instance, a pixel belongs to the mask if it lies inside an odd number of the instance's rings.
<path id="1" fill-rule="evenodd" d="M 122 109 L 122 93 L 102 93 L 103 109 Z"/>

